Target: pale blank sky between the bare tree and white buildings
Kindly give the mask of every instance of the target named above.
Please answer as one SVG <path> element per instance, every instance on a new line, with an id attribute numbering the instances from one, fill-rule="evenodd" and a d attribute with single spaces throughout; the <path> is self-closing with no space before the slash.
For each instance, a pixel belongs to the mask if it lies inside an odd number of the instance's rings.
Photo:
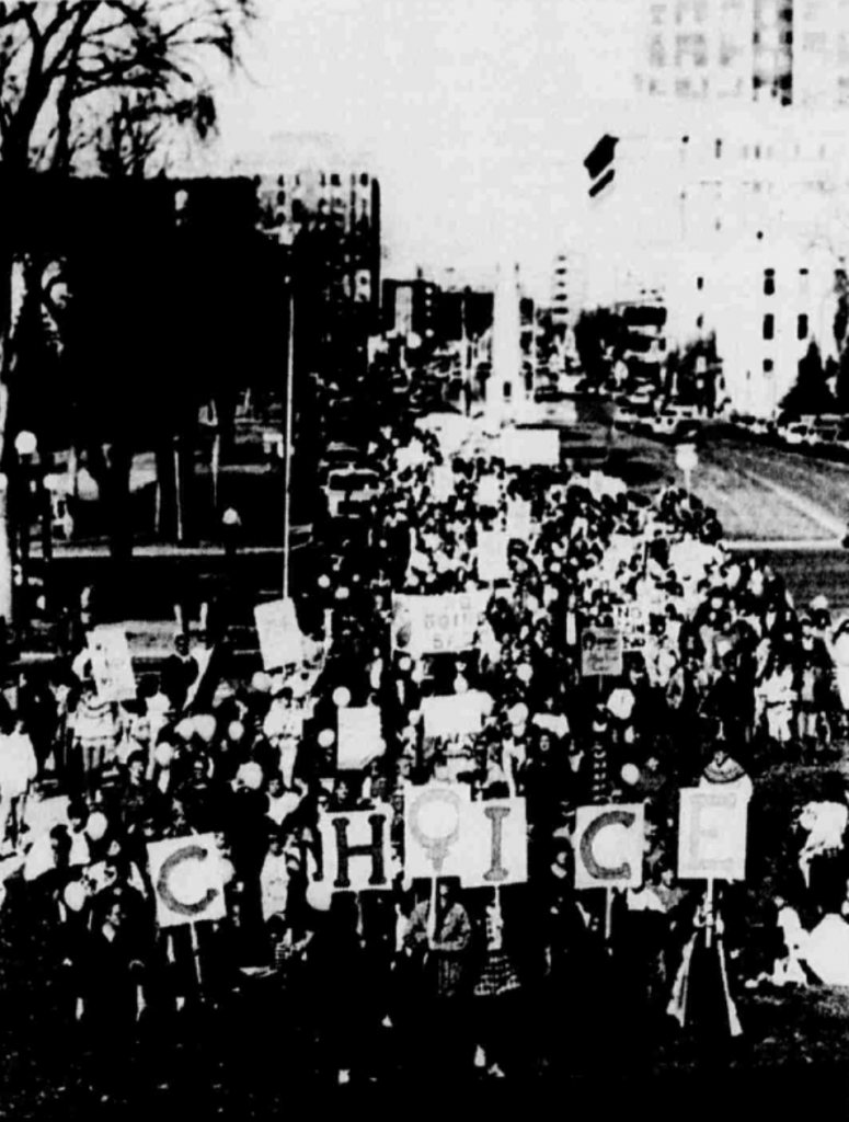
<path id="1" fill-rule="evenodd" d="M 631 90 L 639 0 L 259 0 L 214 160 L 325 134 L 381 181 L 387 275 L 519 261 L 591 222 L 583 157 Z"/>

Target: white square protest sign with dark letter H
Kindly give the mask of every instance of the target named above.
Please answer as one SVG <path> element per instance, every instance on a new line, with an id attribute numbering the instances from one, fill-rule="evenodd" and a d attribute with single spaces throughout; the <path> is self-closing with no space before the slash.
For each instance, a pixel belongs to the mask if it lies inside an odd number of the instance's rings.
<path id="1" fill-rule="evenodd" d="M 323 883 L 332 892 L 373 892 L 391 888 L 391 807 L 322 813 Z"/>

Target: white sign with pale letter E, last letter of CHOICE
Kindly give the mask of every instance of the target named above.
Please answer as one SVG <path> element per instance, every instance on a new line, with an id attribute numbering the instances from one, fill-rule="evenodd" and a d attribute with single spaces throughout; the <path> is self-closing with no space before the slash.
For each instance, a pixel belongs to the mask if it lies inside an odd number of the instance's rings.
<path id="1" fill-rule="evenodd" d="M 740 791 L 684 788 L 679 818 L 682 880 L 746 877 L 747 801 Z"/>

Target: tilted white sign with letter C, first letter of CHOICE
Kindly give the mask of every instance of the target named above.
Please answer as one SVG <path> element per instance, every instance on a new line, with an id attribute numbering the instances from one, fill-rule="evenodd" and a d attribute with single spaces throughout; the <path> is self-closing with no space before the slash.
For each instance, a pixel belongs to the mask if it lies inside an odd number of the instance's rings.
<path id="1" fill-rule="evenodd" d="M 224 871 L 214 835 L 151 842 L 147 854 L 159 927 L 224 919 Z"/>

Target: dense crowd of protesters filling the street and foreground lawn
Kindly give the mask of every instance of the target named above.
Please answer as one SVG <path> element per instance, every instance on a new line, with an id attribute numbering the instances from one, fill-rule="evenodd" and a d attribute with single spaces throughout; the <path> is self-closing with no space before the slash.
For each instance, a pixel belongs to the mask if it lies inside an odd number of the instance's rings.
<path id="1" fill-rule="evenodd" d="M 232 1021 L 265 1026 L 260 1041 L 246 1030 L 251 1048 L 341 1082 L 434 1065 L 585 1072 L 609 1064 L 635 1011 L 649 1041 L 674 1023 L 732 1039 L 744 981 L 822 977 L 805 940 L 846 926 L 846 789 L 832 769 L 833 789 L 776 834 L 758 784 L 839 754 L 847 626 L 727 552 L 681 489 L 648 496 L 600 472 L 550 485 L 424 431 L 386 433 L 370 456 L 384 491 L 367 533 L 316 573 L 326 618 L 301 664 L 232 681 L 214 644 L 179 634 L 135 700 L 101 698 L 85 650 L 7 698 L 0 925 L 15 914 L 25 932 L 34 1023 L 83 1041 L 116 1087 L 139 1033 L 165 1040 L 182 1014 L 257 1003 L 270 1021 Z M 509 541 L 495 577 L 493 534 Z M 472 647 L 416 654 L 398 595 L 478 591 Z M 582 675 L 588 628 L 622 636 L 621 674 Z M 427 736 L 423 701 L 462 693 L 486 699 L 481 732 Z M 367 705 L 385 751 L 341 767 L 339 709 Z M 46 776 L 68 799 L 39 833 L 27 799 Z M 402 784 L 432 780 L 526 800 L 527 884 L 449 880 L 434 901 L 405 881 Z M 749 876 L 779 870 L 773 916 L 754 914 L 746 884 L 708 900 L 677 881 L 677 792 L 700 784 L 749 800 Z M 645 802 L 647 840 L 643 888 L 618 892 L 606 922 L 603 893 L 574 888 L 570 839 L 575 808 L 611 801 Z M 398 815 L 394 888 L 332 894 L 319 816 L 376 802 Z M 194 936 L 157 927 L 147 857 L 192 834 L 216 836 L 227 879 L 227 918 Z M 700 967 L 705 946 L 719 955 Z"/>

